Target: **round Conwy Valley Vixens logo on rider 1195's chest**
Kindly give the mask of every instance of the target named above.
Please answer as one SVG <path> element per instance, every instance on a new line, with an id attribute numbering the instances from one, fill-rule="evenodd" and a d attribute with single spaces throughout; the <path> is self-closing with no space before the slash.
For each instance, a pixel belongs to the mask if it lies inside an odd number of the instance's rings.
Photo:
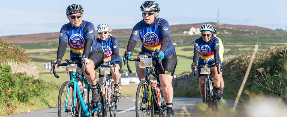
<path id="1" fill-rule="evenodd" d="M 156 33 L 148 32 L 144 35 L 142 41 L 144 45 L 154 46 L 154 45 L 158 45 L 159 38 L 158 38 L 158 35 L 156 35 Z"/>

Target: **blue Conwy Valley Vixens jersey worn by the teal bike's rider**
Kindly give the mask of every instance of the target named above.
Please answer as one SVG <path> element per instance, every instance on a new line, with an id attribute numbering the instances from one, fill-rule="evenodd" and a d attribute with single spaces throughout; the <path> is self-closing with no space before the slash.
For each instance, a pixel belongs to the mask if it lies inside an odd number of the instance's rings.
<path id="1" fill-rule="evenodd" d="M 64 41 L 69 44 L 71 57 L 82 57 L 85 39 L 93 40 L 90 52 L 102 49 L 95 39 L 95 27 L 92 23 L 82 20 L 82 24 L 78 28 L 72 26 L 71 23 L 62 26 L 59 42 Z"/>

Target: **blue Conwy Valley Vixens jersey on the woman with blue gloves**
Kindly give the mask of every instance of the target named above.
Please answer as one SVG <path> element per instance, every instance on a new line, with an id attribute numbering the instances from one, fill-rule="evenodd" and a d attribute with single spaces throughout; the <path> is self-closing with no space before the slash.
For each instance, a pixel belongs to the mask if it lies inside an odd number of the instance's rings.
<path id="1" fill-rule="evenodd" d="M 155 50 L 159 49 L 162 43 L 162 36 L 168 35 L 170 37 L 170 27 L 165 19 L 155 19 L 152 26 L 147 25 L 144 20 L 141 20 L 133 27 L 130 39 L 138 41 L 141 39 L 143 43 L 141 50 L 146 51 L 149 54 L 155 56 Z M 166 53 L 164 56 L 173 55 L 175 53 L 175 47 L 169 39 L 166 47 Z"/>

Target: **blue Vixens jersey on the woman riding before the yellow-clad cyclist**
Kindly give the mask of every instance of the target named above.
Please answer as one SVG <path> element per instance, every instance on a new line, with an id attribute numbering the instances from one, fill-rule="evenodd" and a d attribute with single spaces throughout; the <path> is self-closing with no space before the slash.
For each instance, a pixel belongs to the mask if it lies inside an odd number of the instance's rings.
<path id="1" fill-rule="evenodd" d="M 202 37 L 200 37 L 194 42 L 193 51 L 195 51 L 196 49 L 199 50 L 200 53 L 200 57 L 198 60 L 199 63 L 213 62 L 215 60 L 213 50 L 219 49 L 219 41 L 216 37 L 212 36 L 210 43 L 205 43 Z"/>

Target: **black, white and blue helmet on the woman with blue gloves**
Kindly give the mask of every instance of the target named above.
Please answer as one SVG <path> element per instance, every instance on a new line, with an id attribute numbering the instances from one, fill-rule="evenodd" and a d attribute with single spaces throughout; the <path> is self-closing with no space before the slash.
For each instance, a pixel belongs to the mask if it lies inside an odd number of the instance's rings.
<path id="1" fill-rule="evenodd" d="M 153 11 L 153 12 L 160 12 L 160 7 L 158 6 L 158 3 L 156 1 L 145 1 L 141 5 L 141 11 Z"/>

